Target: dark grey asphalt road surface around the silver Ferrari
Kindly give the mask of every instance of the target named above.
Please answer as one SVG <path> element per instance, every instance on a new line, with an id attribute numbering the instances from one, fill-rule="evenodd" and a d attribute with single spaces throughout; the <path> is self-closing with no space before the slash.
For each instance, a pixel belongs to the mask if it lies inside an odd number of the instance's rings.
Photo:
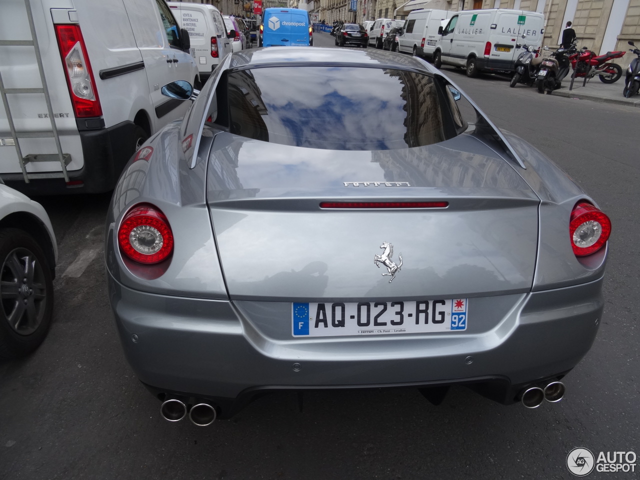
<path id="1" fill-rule="evenodd" d="M 333 46 L 327 34 L 315 42 Z M 170 424 L 116 337 L 101 245 L 109 195 L 40 198 L 60 249 L 54 321 L 35 354 L 0 363 L 0 479 L 569 479 L 574 447 L 640 454 L 637 109 L 444 71 L 611 216 L 607 307 L 563 401 L 527 410 L 452 388 L 435 407 L 415 390 L 320 392 L 300 412 L 281 394 L 208 428 Z"/>

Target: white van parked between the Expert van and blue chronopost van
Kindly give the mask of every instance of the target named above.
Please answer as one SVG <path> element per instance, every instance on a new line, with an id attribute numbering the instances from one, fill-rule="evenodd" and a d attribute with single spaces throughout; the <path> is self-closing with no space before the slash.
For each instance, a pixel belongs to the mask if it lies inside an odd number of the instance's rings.
<path id="1" fill-rule="evenodd" d="M 233 51 L 220 10 L 204 3 L 167 2 L 181 28 L 189 32 L 191 54 L 205 83 L 214 68 Z"/>

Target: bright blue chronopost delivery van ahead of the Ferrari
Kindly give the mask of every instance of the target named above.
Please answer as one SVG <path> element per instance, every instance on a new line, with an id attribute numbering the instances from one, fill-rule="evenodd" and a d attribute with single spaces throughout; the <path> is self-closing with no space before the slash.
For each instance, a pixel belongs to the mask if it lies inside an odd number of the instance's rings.
<path id="1" fill-rule="evenodd" d="M 309 13 L 300 8 L 266 8 L 262 16 L 262 45 L 313 45 Z"/>

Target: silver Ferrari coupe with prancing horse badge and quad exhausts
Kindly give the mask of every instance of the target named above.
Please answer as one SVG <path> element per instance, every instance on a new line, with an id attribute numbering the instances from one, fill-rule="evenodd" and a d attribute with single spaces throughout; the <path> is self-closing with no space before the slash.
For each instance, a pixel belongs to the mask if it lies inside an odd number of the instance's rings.
<path id="1" fill-rule="evenodd" d="M 207 425 L 284 389 L 563 397 L 602 317 L 611 223 L 441 72 L 280 47 L 163 92 L 193 103 L 120 177 L 106 266 L 166 419 Z"/>

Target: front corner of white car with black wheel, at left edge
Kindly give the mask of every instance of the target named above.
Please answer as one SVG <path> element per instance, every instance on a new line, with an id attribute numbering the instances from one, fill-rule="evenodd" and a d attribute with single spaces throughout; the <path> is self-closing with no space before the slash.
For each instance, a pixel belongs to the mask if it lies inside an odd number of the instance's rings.
<path id="1" fill-rule="evenodd" d="M 42 205 L 0 180 L 0 359 L 30 353 L 47 335 L 57 258 Z"/>

